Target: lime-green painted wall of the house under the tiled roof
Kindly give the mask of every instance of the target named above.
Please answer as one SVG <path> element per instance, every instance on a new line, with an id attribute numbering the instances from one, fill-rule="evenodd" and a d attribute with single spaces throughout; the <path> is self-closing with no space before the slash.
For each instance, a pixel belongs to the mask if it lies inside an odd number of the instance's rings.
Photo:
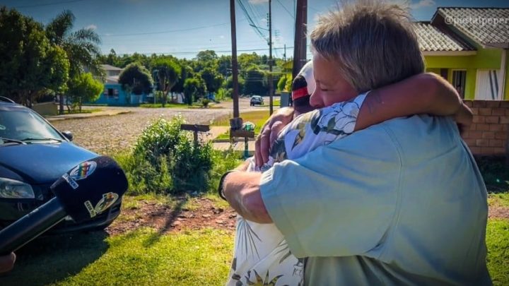
<path id="1" fill-rule="evenodd" d="M 440 68 L 449 68 L 447 74 L 447 81 L 449 82 L 452 81 L 452 69 L 466 70 L 467 79 L 464 95 L 465 99 L 473 100 L 475 98 L 477 69 L 499 69 L 501 68 L 502 59 L 501 49 L 483 49 L 480 46 L 476 48 L 478 49 L 477 54 L 472 56 L 424 56 L 426 70 L 440 74 Z M 508 84 L 507 81 L 505 84 Z M 507 89 L 505 96 L 509 97 Z"/>

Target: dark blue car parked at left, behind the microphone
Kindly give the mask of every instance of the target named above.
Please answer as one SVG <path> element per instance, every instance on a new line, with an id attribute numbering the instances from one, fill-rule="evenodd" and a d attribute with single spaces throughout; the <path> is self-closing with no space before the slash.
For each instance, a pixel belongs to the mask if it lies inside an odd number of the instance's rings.
<path id="1" fill-rule="evenodd" d="M 98 157 L 71 143 L 28 107 L 0 97 L 0 229 L 54 197 L 54 181 L 81 162 Z M 121 200 L 93 220 L 76 224 L 67 217 L 51 233 L 102 230 L 120 214 Z"/>

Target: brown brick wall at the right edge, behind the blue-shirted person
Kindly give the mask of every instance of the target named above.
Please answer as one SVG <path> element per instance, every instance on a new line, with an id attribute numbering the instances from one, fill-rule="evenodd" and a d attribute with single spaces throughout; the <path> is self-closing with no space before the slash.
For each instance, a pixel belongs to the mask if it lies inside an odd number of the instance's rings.
<path id="1" fill-rule="evenodd" d="M 508 146 L 509 101 L 464 100 L 474 121 L 463 139 L 474 155 L 505 155 Z"/>

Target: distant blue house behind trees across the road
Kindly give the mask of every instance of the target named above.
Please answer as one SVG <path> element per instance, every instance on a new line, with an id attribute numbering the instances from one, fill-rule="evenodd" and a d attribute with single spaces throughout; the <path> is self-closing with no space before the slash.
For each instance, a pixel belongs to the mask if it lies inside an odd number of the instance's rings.
<path id="1" fill-rule="evenodd" d="M 109 64 L 102 64 L 101 66 L 106 73 L 105 88 L 99 99 L 92 103 L 100 105 L 139 105 L 146 102 L 148 95 L 129 95 L 122 89 L 122 85 L 119 83 L 122 68 L 110 66 Z"/>

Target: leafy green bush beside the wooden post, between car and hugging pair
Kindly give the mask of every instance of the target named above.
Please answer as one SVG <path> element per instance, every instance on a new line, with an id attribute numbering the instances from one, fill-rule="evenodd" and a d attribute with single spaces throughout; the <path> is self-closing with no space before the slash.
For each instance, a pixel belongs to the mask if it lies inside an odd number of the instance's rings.
<path id="1" fill-rule="evenodd" d="M 212 147 L 180 130 L 184 120 L 160 118 L 141 133 L 133 150 L 115 158 L 126 172 L 129 192 L 194 193 L 209 190 Z"/>

